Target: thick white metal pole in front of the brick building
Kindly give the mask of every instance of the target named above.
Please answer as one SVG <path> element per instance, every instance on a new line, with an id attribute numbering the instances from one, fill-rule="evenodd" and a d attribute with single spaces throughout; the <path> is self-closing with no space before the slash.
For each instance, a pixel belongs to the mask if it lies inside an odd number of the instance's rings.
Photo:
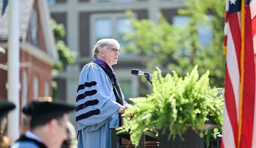
<path id="1" fill-rule="evenodd" d="M 16 108 L 8 114 L 8 136 L 12 142 L 19 136 L 19 0 L 9 2 L 9 33 L 8 33 L 8 101 Z"/>

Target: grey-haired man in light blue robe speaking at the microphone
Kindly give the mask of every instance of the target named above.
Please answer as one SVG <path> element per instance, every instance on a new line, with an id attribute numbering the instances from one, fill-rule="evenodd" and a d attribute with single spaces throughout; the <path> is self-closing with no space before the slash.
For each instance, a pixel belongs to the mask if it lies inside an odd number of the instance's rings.
<path id="1" fill-rule="evenodd" d="M 110 148 L 109 127 L 121 126 L 121 113 L 129 108 L 112 69 L 119 54 L 118 41 L 101 39 L 93 49 L 95 60 L 80 71 L 76 98 L 79 148 Z"/>

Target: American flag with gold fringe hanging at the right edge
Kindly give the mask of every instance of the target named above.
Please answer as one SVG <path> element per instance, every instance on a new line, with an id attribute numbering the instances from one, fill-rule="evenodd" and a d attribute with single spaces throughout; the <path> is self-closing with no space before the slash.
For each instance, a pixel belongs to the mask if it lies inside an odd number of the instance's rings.
<path id="1" fill-rule="evenodd" d="M 222 148 L 256 148 L 256 0 L 226 0 Z"/>

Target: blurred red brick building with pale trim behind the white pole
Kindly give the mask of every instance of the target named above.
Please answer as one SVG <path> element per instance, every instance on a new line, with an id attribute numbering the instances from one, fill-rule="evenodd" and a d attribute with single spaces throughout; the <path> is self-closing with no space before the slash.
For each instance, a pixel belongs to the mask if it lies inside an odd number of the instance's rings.
<path id="1" fill-rule="evenodd" d="M 0 1 L 0 6 L 3 6 L 3 1 Z M 7 99 L 7 90 L 12 89 L 7 83 L 8 11 L 7 5 L 0 17 L 0 47 L 6 50 L 0 57 L 0 98 L 4 99 Z M 27 102 L 52 96 L 52 66 L 58 61 L 58 54 L 49 20 L 46 0 L 20 0 L 20 112 Z"/>

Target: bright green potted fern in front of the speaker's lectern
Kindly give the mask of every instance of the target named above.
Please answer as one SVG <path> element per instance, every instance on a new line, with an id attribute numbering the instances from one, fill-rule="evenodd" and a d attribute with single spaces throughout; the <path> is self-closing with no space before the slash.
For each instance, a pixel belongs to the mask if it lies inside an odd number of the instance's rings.
<path id="1" fill-rule="evenodd" d="M 156 69 L 154 74 L 159 77 L 152 78 L 153 93 L 130 98 L 134 107 L 125 111 L 123 126 L 118 128 L 119 132 L 130 133 L 133 145 L 138 145 L 142 133 L 147 130 L 169 128 L 169 139 L 177 134 L 183 139 L 188 124 L 201 137 L 208 118 L 222 124 L 221 100 L 217 97 L 218 89 L 209 86 L 209 71 L 199 78 L 198 65 L 195 65 L 183 78 L 175 71 L 163 77 L 161 70 Z M 130 114 L 134 116 L 131 118 Z"/>

